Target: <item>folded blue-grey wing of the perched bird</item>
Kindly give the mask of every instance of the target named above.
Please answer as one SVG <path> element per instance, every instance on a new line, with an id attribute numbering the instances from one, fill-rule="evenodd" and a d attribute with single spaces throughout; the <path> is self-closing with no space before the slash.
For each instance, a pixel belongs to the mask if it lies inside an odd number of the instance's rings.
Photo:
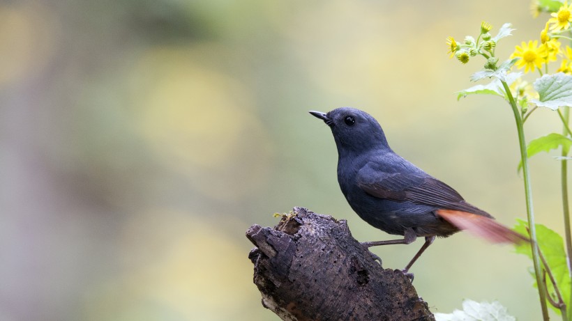
<path id="1" fill-rule="evenodd" d="M 490 216 L 483 210 L 466 203 L 460 194 L 444 182 L 433 178 L 412 164 L 405 169 L 383 171 L 379 164 L 370 162 L 356 177 L 357 185 L 377 198 L 393 201 L 412 201 L 423 205 L 460 210 Z"/>

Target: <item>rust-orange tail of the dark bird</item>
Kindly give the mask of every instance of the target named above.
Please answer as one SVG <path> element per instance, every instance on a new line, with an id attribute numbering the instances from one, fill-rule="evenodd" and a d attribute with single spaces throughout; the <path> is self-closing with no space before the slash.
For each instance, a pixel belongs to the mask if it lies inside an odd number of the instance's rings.
<path id="1" fill-rule="evenodd" d="M 483 237 L 492 243 L 519 244 L 530 242 L 527 237 L 498 223 L 495 219 L 483 215 L 458 210 L 437 210 L 437 214 L 456 228 L 468 230 L 470 233 Z"/>

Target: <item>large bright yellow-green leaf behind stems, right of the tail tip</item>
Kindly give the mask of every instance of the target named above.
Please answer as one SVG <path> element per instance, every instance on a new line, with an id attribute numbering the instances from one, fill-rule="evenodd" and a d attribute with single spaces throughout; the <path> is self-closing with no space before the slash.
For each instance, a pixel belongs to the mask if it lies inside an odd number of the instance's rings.
<path id="1" fill-rule="evenodd" d="M 513 230 L 518 233 L 528 235 L 527 222 L 522 219 L 518 219 L 517 221 L 518 223 Z M 571 283 L 570 275 L 568 273 L 568 265 L 566 264 L 566 251 L 564 251 L 562 236 L 542 224 L 536 224 L 536 238 L 538 239 L 539 249 L 546 260 L 546 264 L 550 267 L 550 271 L 554 276 L 557 287 L 562 295 L 562 299 L 567 303 L 570 298 Z M 516 253 L 524 254 L 532 259 L 532 249 L 530 248 L 530 244 L 516 245 L 515 250 Z M 532 279 L 536 281 L 534 272 L 531 271 L 530 275 L 532 276 Z M 548 292 L 554 293 L 554 286 L 550 282 L 550 279 L 548 279 L 548 276 L 546 277 L 546 283 Z M 550 304 L 548 305 L 552 306 Z M 559 309 L 554 308 L 554 310 L 557 313 L 560 313 Z"/>

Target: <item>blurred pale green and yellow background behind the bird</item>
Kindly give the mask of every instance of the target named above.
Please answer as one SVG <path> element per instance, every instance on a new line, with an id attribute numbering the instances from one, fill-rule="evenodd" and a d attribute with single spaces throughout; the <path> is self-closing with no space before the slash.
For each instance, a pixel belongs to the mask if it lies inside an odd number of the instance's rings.
<path id="1" fill-rule="evenodd" d="M 303 206 L 392 238 L 347 205 L 310 109 L 368 111 L 396 152 L 513 225 L 513 115 L 498 97 L 457 102 L 484 61 L 446 54 L 483 19 L 517 29 L 504 60 L 546 16 L 522 0 L 2 1 L 0 320 L 278 320 L 252 281 L 250 225 Z M 557 114 L 526 130 L 559 132 Z M 532 159 L 539 222 L 562 233 L 558 170 Z M 402 268 L 419 246 L 373 251 Z M 498 299 L 536 320 L 530 265 L 460 233 L 412 272 L 434 312 Z"/>

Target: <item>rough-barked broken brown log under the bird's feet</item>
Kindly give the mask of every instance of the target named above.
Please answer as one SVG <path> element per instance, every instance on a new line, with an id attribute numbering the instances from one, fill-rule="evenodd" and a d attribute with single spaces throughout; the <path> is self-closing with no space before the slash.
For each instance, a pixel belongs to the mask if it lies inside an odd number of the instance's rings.
<path id="1" fill-rule="evenodd" d="M 409 278 L 380 267 L 345 220 L 294 208 L 246 237 L 262 305 L 282 320 L 435 320 Z"/>

